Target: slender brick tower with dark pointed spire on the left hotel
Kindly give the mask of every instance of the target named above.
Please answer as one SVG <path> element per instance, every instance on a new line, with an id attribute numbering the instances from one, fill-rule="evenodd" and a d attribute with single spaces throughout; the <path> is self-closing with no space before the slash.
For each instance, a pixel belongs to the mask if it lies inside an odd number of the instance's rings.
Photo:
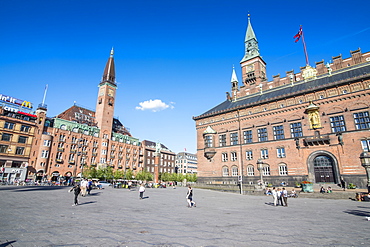
<path id="1" fill-rule="evenodd" d="M 101 136 L 106 139 L 111 137 L 114 103 L 117 90 L 116 73 L 114 68 L 113 48 L 105 65 L 103 78 L 99 84 L 98 100 L 96 102 L 95 118 L 101 131 Z"/>

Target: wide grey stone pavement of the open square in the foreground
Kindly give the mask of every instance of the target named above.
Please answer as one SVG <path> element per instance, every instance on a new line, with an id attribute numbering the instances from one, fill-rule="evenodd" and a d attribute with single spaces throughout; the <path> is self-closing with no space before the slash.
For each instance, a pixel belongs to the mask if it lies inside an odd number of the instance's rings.
<path id="1" fill-rule="evenodd" d="M 3 246 L 369 246 L 370 203 L 194 190 L 93 190 L 72 207 L 68 187 L 0 187 Z"/>

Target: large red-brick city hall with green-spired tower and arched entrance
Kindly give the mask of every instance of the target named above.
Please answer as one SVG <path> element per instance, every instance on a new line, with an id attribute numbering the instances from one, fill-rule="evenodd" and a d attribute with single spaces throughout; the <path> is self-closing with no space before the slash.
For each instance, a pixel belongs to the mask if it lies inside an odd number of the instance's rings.
<path id="1" fill-rule="evenodd" d="M 294 185 L 347 183 L 366 187 L 359 159 L 370 146 L 370 53 L 316 62 L 266 77 L 250 19 L 245 54 L 226 100 L 193 117 L 198 181 Z"/>

